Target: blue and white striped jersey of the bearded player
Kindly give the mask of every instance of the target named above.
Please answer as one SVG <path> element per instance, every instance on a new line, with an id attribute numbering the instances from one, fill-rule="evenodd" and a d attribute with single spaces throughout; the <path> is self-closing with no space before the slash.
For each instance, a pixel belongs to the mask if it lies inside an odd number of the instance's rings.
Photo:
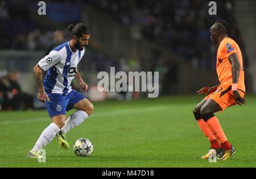
<path id="1" fill-rule="evenodd" d="M 54 48 L 49 55 L 39 61 L 38 65 L 47 70 L 44 78 L 44 90 L 47 93 L 67 95 L 71 92 L 71 81 L 76 77 L 79 64 L 85 50 L 72 52 L 69 41 Z"/>

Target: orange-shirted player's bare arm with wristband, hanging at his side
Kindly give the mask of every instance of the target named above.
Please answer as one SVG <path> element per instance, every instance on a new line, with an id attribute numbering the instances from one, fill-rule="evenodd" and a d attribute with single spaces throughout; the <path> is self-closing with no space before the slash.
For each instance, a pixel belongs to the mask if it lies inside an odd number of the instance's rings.
<path id="1" fill-rule="evenodd" d="M 237 104 L 242 106 L 245 105 L 246 99 L 242 98 L 240 94 L 238 93 L 237 90 L 237 83 L 238 83 L 238 78 L 240 76 L 240 70 L 241 70 L 241 65 L 238 60 L 237 53 L 232 53 L 231 55 L 228 56 L 229 62 L 232 65 L 232 91 L 233 91 L 233 96 L 234 99 L 236 100 Z"/>

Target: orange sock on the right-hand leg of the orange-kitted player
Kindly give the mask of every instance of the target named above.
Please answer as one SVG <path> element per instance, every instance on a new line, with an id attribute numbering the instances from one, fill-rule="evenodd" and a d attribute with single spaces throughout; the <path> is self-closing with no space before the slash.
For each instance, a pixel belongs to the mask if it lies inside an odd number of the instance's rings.
<path id="1" fill-rule="evenodd" d="M 224 134 L 224 131 L 221 128 L 220 122 L 218 122 L 216 116 L 213 116 L 212 118 L 207 120 L 207 126 L 209 127 L 210 131 L 212 131 L 213 135 L 216 136 L 218 141 L 220 141 L 221 144 L 228 141 L 226 135 Z"/>

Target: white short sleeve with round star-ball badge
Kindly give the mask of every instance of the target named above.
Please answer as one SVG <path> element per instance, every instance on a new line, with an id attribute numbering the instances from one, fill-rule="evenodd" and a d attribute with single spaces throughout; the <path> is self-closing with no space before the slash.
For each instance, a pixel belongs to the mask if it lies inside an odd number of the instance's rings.
<path id="1" fill-rule="evenodd" d="M 61 56 L 58 51 L 51 51 L 49 55 L 43 57 L 38 63 L 38 65 L 44 70 L 48 70 L 52 66 L 60 63 Z"/>

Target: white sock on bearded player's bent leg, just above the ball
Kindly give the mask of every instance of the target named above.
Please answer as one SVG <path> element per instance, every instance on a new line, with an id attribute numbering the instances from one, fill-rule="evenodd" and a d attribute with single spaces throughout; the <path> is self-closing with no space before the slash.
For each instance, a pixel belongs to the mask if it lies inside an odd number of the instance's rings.
<path id="1" fill-rule="evenodd" d="M 84 122 L 86 118 L 89 118 L 89 116 L 87 113 L 85 113 L 85 111 L 76 111 L 69 116 L 68 120 L 66 120 L 65 125 L 63 126 L 63 128 L 61 128 L 61 130 L 67 133 L 72 128 Z"/>

